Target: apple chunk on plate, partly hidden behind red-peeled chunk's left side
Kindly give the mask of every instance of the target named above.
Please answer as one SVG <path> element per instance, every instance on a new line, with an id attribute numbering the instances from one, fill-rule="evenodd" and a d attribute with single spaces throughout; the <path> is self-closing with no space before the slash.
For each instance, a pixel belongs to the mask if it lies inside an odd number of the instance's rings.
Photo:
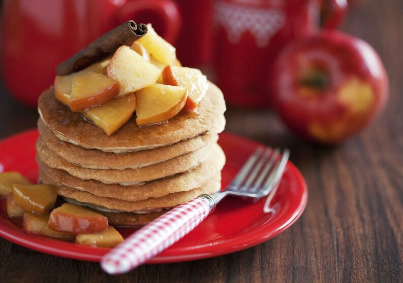
<path id="1" fill-rule="evenodd" d="M 49 228 L 49 214 L 39 215 L 36 213 L 25 213 L 22 226 L 27 233 L 37 234 L 46 237 L 57 238 L 58 240 L 73 240 L 75 235 L 54 231 Z"/>

